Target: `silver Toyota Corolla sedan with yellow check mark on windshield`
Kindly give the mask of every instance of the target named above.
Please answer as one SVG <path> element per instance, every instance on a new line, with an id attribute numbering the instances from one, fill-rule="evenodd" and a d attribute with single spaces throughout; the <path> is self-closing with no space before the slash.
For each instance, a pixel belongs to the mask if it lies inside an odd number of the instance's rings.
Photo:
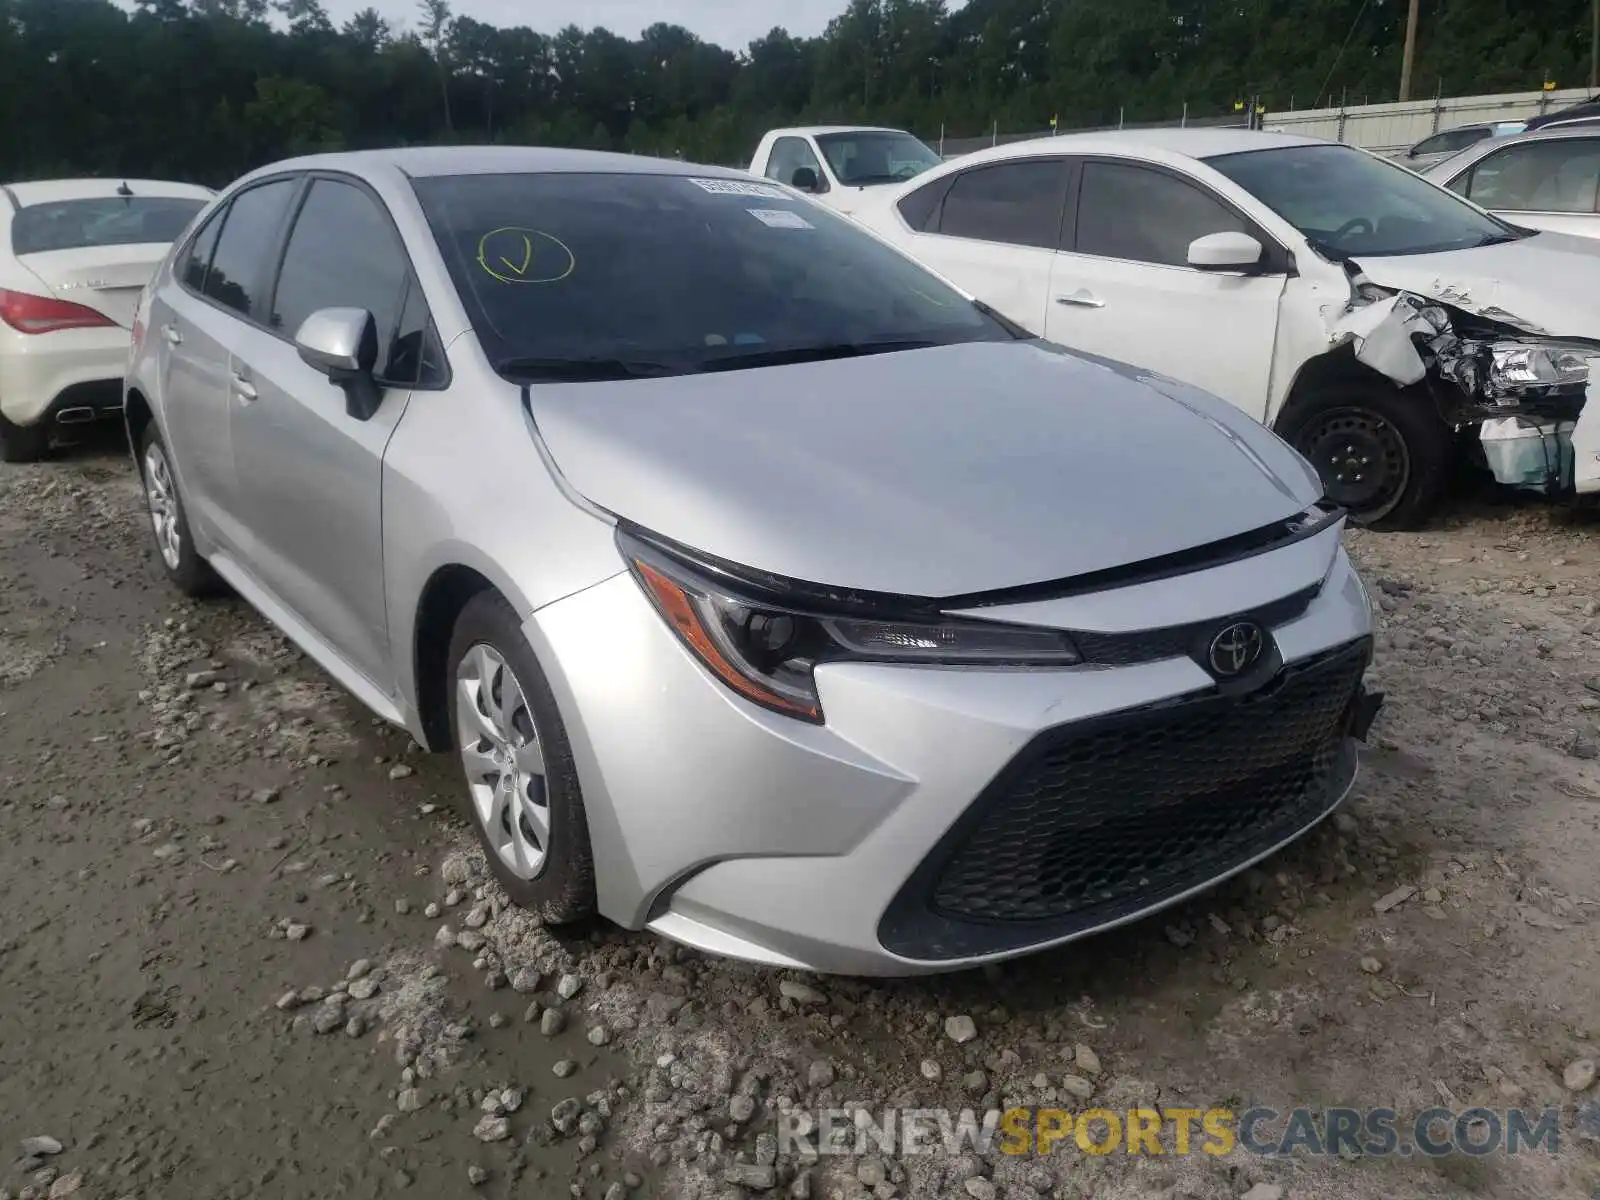
<path id="1" fill-rule="evenodd" d="M 733 171 L 256 171 L 146 290 L 126 414 L 173 582 L 454 754 L 555 923 L 859 974 L 1066 942 L 1306 832 L 1379 702 L 1283 442 Z"/>

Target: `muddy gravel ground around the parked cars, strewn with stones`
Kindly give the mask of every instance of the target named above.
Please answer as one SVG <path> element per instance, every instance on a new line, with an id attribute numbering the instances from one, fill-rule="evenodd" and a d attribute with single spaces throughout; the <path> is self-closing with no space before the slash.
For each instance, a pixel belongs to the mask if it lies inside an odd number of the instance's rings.
<path id="1" fill-rule="evenodd" d="M 0 1197 L 1590 1197 L 1600 523 L 1350 534 L 1350 805 L 1194 904 L 906 982 L 506 906 L 454 763 L 146 552 L 114 440 L 0 467 Z M 1587 1064 L 1587 1066 L 1586 1066 Z M 778 1112 L 1560 1106 L 1557 1155 L 776 1155 Z M 1597 1123 L 1600 1125 L 1600 1123 Z"/>

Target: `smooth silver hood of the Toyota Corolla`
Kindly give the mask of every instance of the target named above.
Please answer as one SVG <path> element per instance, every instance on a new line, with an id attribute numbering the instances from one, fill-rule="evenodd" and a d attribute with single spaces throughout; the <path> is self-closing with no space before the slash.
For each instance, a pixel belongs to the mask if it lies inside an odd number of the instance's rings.
<path id="1" fill-rule="evenodd" d="M 1314 472 L 1221 400 L 1040 342 L 534 386 L 590 502 L 792 579 L 950 597 L 1262 528 Z"/>

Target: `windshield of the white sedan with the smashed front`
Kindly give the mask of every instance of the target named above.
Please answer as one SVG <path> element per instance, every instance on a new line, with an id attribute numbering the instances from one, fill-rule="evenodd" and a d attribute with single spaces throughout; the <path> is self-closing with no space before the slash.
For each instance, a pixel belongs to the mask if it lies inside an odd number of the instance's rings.
<path id="1" fill-rule="evenodd" d="M 1349 146 L 1286 146 L 1206 160 L 1334 259 L 1429 254 L 1523 234 L 1413 171 Z"/>

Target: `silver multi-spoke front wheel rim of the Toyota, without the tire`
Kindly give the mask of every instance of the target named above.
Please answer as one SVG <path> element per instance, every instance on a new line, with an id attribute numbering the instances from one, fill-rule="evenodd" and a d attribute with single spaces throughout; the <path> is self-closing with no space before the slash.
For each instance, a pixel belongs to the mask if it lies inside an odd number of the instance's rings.
<path id="1" fill-rule="evenodd" d="M 485 842 L 517 878 L 534 878 L 550 848 L 544 749 L 522 683 L 488 643 L 456 667 L 456 730 Z"/>

